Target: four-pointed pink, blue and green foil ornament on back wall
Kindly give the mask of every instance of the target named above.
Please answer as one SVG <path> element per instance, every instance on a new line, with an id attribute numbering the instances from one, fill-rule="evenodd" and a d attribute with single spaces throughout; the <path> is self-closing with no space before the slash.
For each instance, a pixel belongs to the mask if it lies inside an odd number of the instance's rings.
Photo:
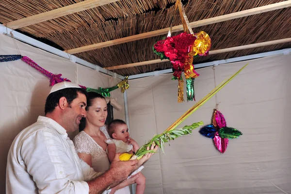
<path id="1" fill-rule="evenodd" d="M 226 126 L 224 115 L 217 109 L 213 110 L 211 124 L 202 127 L 199 133 L 213 139 L 214 146 L 220 153 L 225 153 L 228 139 L 235 139 L 242 135 L 239 130 Z"/>

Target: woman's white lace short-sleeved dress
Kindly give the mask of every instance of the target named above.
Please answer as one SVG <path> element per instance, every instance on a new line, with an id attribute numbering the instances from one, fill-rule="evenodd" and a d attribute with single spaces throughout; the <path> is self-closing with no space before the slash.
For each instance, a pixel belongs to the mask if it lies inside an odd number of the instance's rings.
<path id="1" fill-rule="evenodd" d="M 106 126 L 100 127 L 107 139 L 110 138 Z M 107 152 L 97 144 L 87 133 L 81 131 L 73 140 L 77 153 L 90 154 L 92 156 L 92 168 L 95 172 L 104 172 L 109 169 L 110 161 Z M 115 194 L 130 194 L 129 186 L 119 189 Z"/>

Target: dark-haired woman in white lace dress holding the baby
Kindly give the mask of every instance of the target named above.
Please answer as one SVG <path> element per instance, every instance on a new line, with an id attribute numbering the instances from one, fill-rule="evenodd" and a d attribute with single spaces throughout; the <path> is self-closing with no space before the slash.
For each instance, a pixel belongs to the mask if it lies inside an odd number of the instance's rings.
<path id="1" fill-rule="evenodd" d="M 105 121 L 107 118 L 107 104 L 105 98 L 96 93 L 88 92 L 87 116 L 82 119 L 85 128 L 73 140 L 78 156 L 89 164 L 96 172 L 109 169 L 110 162 L 106 153 L 109 139 Z M 111 194 L 130 194 L 129 186 L 133 184 L 132 178 L 120 183 L 112 189 Z"/>

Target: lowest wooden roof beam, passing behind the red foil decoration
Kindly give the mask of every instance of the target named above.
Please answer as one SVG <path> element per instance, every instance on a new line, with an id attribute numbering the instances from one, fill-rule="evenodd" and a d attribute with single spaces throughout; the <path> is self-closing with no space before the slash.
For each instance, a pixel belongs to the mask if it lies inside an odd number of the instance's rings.
<path id="1" fill-rule="evenodd" d="M 285 43 L 285 42 L 291 42 L 291 38 L 284 38 L 284 39 L 272 40 L 272 41 L 267 41 L 267 42 L 260 42 L 260 43 L 255 43 L 255 44 L 242 45 L 242 46 L 238 46 L 238 47 L 219 49 L 219 50 L 210 51 L 209 54 L 227 53 L 227 52 L 231 52 L 231 51 L 239 51 L 239 50 L 243 50 L 243 49 L 252 49 L 252 48 L 280 44 L 280 43 Z M 119 70 L 119 69 L 124 69 L 124 68 L 142 66 L 142 65 L 163 63 L 163 62 L 168 62 L 168 61 L 169 61 L 168 59 L 164 59 L 164 60 L 155 59 L 155 60 L 143 61 L 143 62 L 138 62 L 138 63 L 130 63 L 130 64 L 126 64 L 126 65 L 118 65 L 118 66 L 108 67 L 105 69 L 106 70 Z"/>

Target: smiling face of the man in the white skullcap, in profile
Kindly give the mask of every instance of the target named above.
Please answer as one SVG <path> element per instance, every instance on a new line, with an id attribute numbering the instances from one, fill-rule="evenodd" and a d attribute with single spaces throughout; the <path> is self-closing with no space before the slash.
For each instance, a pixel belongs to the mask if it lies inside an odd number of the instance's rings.
<path id="1" fill-rule="evenodd" d="M 65 108 L 63 127 L 67 132 L 72 132 L 79 129 L 79 124 L 82 117 L 86 117 L 86 102 L 86 96 L 78 92 L 78 97 Z"/>

